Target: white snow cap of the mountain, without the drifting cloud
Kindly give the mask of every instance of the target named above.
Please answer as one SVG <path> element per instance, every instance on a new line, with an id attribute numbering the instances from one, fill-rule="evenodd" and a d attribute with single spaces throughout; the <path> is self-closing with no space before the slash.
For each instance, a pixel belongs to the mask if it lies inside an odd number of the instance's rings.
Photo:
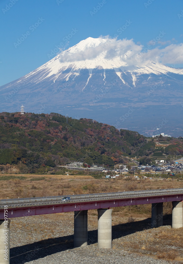
<path id="1" fill-rule="evenodd" d="M 107 59 L 107 51 L 105 50 L 106 45 L 106 39 L 93 39 L 92 37 L 88 37 L 86 40 L 82 40 L 77 45 L 63 51 L 35 71 L 27 74 L 25 78 L 35 77 L 35 74 L 37 75 L 37 73 L 39 73 L 39 78 L 36 77 L 36 83 L 47 78 L 53 82 L 59 81 L 60 79 L 65 79 L 65 81 L 67 81 L 70 76 L 78 76 L 82 69 L 88 69 L 90 77 L 94 69 L 103 69 L 103 77 L 105 77 L 106 69 L 114 69 L 123 83 L 125 83 L 125 81 L 121 73 L 124 72 L 130 72 L 132 79 L 135 78 L 134 75 L 140 74 L 154 73 L 159 75 L 168 72 L 183 74 L 182 69 L 171 68 L 161 64 L 157 65 L 154 62 L 149 62 L 149 65 L 143 67 L 138 67 L 136 65 L 126 65 L 118 56 Z M 127 54 L 125 55 L 128 56 Z M 88 59 L 86 59 L 86 57 Z"/>

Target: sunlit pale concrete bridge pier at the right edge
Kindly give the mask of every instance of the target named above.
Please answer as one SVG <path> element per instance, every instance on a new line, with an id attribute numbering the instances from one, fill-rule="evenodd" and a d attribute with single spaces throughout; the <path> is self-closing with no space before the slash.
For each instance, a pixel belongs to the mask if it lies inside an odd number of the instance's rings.
<path id="1" fill-rule="evenodd" d="M 172 228 L 183 227 L 183 201 L 172 202 Z"/>

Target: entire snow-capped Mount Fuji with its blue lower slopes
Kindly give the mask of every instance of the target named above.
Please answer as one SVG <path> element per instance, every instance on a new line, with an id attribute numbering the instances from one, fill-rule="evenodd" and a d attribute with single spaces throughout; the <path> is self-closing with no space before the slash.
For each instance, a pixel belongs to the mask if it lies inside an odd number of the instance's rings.
<path id="1" fill-rule="evenodd" d="M 145 135 L 166 119 L 162 131 L 183 134 L 183 69 L 148 59 L 140 46 L 134 51 L 130 45 L 102 37 L 80 41 L 1 86 L 0 111 L 20 111 L 23 103 L 26 112 L 88 117 Z"/>

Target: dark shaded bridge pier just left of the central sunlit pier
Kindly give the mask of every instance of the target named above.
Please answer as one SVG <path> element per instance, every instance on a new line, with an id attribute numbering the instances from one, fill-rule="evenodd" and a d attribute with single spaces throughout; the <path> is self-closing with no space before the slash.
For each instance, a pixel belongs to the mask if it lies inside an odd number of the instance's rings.
<path id="1" fill-rule="evenodd" d="M 74 211 L 74 247 L 87 246 L 88 210 Z"/>

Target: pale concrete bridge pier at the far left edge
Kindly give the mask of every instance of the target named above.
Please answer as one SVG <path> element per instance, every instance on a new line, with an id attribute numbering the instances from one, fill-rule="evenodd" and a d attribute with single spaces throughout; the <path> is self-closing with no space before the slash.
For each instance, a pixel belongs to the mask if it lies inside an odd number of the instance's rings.
<path id="1" fill-rule="evenodd" d="M 10 264 L 10 220 L 0 220 L 0 264 L 5 263 Z"/>

